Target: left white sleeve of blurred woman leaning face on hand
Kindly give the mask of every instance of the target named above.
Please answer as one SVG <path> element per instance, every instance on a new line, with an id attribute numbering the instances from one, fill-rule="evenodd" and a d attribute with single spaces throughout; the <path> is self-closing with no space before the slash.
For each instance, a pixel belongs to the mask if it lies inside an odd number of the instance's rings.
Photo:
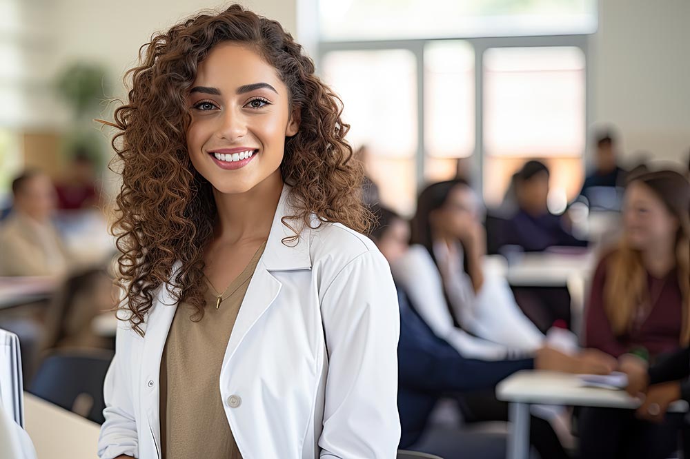
<path id="1" fill-rule="evenodd" d="M 504 360 L 511 356 L 505 346 L 476 338 L 455 327 L 444 298 L 441 275 L 424 247 L 410 247 L 395 264 L 395 278 L 431 331 L 460 355 L 481 360 Z"/>

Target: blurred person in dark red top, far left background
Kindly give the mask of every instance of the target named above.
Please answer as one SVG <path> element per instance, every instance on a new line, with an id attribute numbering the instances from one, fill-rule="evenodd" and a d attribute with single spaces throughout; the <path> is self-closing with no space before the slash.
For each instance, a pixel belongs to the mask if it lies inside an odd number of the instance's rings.
<path id="1" fill-rule="evenodd" d="M 60 210 L 88 209 L 98 204 L 95 165 L 86 152 L 75 154 L 66 178 L 55 185 Z"/>

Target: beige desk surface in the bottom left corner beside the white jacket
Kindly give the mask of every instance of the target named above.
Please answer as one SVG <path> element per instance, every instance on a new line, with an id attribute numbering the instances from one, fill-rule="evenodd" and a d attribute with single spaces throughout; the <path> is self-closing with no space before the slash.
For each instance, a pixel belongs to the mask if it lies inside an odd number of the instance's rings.
<path id="1" fill-rule="evenodd" d="M 38 459 L 93 459 L 101 426 L 24 392 L 24 424 Z"/>

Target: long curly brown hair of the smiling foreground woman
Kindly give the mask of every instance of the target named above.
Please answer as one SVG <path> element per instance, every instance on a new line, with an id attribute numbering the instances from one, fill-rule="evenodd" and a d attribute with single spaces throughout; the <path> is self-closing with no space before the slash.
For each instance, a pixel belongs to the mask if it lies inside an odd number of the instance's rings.
<path id="1" fill-rule="evenodd" d="M 315 76 L 313 61 L 277 21 L 233 5 L 154 34 L 139 50 L 140 65 L 126 73 L 132 78 L 128 103 L 108 123 L 119 130 L 112 147 L 122 185 L 112 232 L 121 252 L 121 309 L 141 335 L 161 286 L 175 300 L 193 305 L 195 317 L 204 314 L 203 255 L 217 210 L 210 183 L 188 156 L 186 97 L 199 63 L 224 41 L 246 45 L 273 65 L 288 88 L 290 106 L 299 110 L 299 132 L 286 138 L 280 166 L 284 182 L 292 186 L 295 214 L 286 218 L 297 225 L 283 219 L 295 232 L 290 239 L 297 240 L 312 214 L 318 225 L 338 222 L 359 232 L 366 232 L 373 219 L 362 203 L 362 165 L 344 139 L 350 126 L 341 119 L 342 102 Z"/>

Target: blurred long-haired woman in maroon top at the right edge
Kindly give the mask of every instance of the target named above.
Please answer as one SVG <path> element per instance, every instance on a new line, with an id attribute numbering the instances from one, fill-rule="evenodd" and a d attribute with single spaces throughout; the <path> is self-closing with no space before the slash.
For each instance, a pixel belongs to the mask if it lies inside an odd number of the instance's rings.
<path id="1" fill-rule="evenodd" d="M 585 330 L 586 346 L 619 358 L 622 369 L 639 358 L 631 353 L 654 363 L 690 341 L 689 209 L 690 183 L 676 172 L 629 181 L 624 236 L 596 269 Z M 636 418 L 633 410 L 583 409 L 580 456 L 667 458 L 676 433 L 671 423 Z"/>

